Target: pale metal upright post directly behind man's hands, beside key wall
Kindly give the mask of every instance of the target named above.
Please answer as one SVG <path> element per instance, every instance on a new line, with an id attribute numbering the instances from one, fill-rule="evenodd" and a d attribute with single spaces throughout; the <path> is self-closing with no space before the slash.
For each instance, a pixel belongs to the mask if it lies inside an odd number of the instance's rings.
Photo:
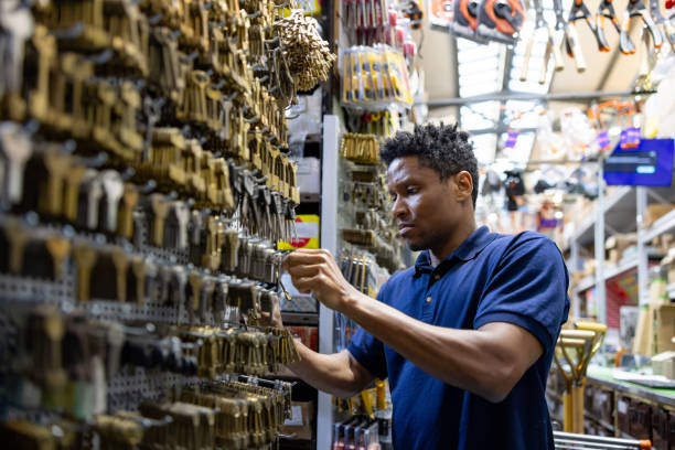
<path id="1" fill-rule="evenodd" d="M 323 116 L 323 156 L 321 163 L 321 248 L 338 255 L 338 174 L 340 122 L 338 116 Z M 319 306 L 319 352 L 333 353 L 332 310 Z M 317 450 L 330 450 L 333 436 L 331 396 L 319 392 L 317 405 Z"/>

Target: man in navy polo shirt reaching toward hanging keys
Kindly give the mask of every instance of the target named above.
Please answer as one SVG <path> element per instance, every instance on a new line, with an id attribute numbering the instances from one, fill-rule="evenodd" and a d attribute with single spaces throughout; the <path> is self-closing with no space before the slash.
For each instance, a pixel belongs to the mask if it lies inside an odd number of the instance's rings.
<path id="1" fill-rule="evenodd" d="M 567 271 L 539 234 L 476 229 L 468 139 L 457 126 L 427 125 L 384 144 L 399 234 L 422 251 L 377 300 L 325 250 L 286 258 L 296 288 L 361 325 L 338 354 L 298 344 L 302 362 L 290 369 L 344 397 L 388 377 L 397 450 L 553 450 L 545 390 L 569 310 Z"/>

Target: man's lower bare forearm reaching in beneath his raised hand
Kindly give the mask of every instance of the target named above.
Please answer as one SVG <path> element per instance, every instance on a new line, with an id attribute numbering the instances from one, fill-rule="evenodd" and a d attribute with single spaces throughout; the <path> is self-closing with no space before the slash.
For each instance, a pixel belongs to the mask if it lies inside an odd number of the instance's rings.
<path id="1" fill-rule="evenodd" d="M 369 379 L 353 366 L 347 351 L 324 355 L 308 349 L 296 341 L 302 361 L 287 365 L 297 376 L 319 390 L 339 396 L 351 397 L 364 388 Z"/>

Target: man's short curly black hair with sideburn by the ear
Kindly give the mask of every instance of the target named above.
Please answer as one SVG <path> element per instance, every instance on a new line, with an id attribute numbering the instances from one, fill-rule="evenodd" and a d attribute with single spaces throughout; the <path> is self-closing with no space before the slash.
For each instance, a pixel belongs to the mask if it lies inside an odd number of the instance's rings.
<path id="1" fill-rule="evenodd" d="M 478 199 L 478 160 L 469 133 L 454 125 L 416 125 L 414 132 L 398 131 L 382 146 L 379 158 L 389 167 L 392 161 L 404 157 L 419 157 L 421 165 L 433 169 L 441 181 L 467 171 L 473 181 L 473 207 Z"/>

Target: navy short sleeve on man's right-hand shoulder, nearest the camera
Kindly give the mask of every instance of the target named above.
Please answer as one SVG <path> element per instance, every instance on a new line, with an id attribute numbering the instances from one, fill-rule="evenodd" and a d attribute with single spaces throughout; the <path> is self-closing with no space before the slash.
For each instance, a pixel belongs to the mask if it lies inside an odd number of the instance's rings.
<path id="1" fill-rule="evenodd" d="M 548 238 L 524 234 L 506 248 L 479 303 L 474 329 L 508 322 L 534 334 L 548 352 L 567 321 L 567 268 Z"/>

